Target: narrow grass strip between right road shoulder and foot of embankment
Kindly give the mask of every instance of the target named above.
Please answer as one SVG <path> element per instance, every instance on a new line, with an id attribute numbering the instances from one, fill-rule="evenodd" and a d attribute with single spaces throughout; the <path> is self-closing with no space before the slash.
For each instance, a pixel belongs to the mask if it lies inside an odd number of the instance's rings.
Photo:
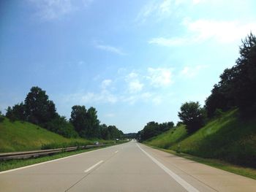
<path id="1" fill-rule="evenodd" d="M 149 146 L 151 146 L 151 145 L 149 145 Z M 154 146 L 151 146 L 151 147 L 154 147 Z M 187 158 L 192 161 L 197 161 L 201 164 L 206 164 L 208 166 L 214 166 L 218 169 L 222 169 L 227 172 L 233 172 L 235 174 L 240 174 L 244 177 L 249 177 L 249 178 L 256 180 L 256 169 L 253 169 L 253 168 L 238 166 L 238 165 L 234 165 L 234 164 L 228 164 L 226 161 L 221 161 L 219 159 L 200 158 L 198 156 L 189 155 L 186 153 L 177 153 L 176 151 L 173 151 L 173 150 L 166 150 L 166 149 L 162 149 L 159 147 L 154 147 L 154 148 L 156 148 L 158 150 L 165 151 L 167 153 L 171 153 L 173 155 L 178 155 L 180 157 Z"/>

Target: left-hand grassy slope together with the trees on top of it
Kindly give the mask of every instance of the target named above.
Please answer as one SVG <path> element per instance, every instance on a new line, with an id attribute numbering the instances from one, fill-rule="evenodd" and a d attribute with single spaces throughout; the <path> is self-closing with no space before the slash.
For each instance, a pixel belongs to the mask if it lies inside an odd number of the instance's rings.
<path id="1" fill-rule="evenodd" d="M 0 114 L 0 152 L 39 150 L 113 142 L 123 139 L 116 126 L 100 124 L 97 110 L 74 105 L 69 120 L 56 112 L 53 101 L 39 87 L 32 87 L 26 99 Z"/>

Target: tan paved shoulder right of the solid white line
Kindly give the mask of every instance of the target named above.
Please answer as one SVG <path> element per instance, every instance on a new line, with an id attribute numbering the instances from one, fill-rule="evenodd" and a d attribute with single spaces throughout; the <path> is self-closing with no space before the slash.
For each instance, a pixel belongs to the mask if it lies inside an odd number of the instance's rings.
<path id="1" fill-rule="evenodd" d="M 200 164 L 146 145 L 140 144 L 140 147 L 199 191 L 202 191 L 205 186 L 213 191 L 255 191 L 256 180 Z"/>

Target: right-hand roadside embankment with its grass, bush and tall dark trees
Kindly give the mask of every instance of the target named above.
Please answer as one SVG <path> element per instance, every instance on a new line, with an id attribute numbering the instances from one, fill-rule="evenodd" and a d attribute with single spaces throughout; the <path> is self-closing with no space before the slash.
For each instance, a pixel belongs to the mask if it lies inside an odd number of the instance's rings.
<path id="1" fill-rule="evenodd" d="M 249 34 L 239 49 L 236 64 L 219 76 L 203 107 L 198 101 L 184 102 L 176 127 L 161 133 L 148 130 L 147 124 L 138 132 L 138 140 L 176 153 L 256 169 L 255 35 Z M 152 131 L 156 134 L 143 137 Z"/>

